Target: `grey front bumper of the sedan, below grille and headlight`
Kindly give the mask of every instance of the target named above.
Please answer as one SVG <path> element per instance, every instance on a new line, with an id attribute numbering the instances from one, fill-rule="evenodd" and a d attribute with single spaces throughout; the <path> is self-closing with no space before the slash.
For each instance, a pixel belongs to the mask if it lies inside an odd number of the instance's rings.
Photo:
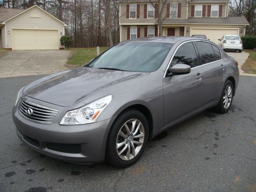
<path id="1" fill-rule="evenodd" d="M 83 125 L 40 124 L 21 116 L 15 107 L 13 121 L 19 139 L 33 150 L 63 161 L 90 164 L 104 161 L 114 118 Z"/>

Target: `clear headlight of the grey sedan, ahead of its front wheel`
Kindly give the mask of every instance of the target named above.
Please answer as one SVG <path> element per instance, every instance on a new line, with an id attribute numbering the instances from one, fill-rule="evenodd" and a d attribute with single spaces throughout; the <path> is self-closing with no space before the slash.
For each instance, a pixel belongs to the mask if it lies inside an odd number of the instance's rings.
<path id="1" fill-rule="evenodd" d="M 60 124 L 87 124 L 97 120 L 100 113 L 110 104 L 112 95 L 98 99 L 82 108 L 68 111 Z"/>

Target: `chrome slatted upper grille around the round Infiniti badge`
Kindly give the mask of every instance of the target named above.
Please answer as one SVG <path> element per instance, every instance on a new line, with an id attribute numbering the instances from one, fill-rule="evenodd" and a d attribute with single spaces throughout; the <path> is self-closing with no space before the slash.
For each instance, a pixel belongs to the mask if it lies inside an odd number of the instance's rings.
<path id="1" fill-rule="evenodd" d="M 28 109 L 33 111 L 31 115 L 28 115 L 26 112 Z M 58 113 L 58 110 L 35 104 L 24 99 L 20 100 L 18 111 L 27 119 L 42 124 L 51 124 Z"/>

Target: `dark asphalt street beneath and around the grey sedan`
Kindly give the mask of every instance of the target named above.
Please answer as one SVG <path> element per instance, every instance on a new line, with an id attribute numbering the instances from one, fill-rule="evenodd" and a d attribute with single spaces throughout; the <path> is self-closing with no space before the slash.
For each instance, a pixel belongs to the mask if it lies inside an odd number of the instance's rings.
<path id="1" fill-rule="evenodd" d="M 240 77 L 227 114 L 208 110 L 173 127 L 126 169 L 65 163 L 17 138 L 16 94 L 39 77 L 0 79 L 0 191 L 256 191 L 255 77 Z"/>

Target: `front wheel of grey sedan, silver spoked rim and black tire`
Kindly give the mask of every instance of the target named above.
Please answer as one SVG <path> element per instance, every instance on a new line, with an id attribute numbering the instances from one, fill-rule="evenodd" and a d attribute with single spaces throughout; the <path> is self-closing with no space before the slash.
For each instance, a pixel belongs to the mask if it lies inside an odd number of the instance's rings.
<path id="1" fill-rule="evenodd" d="M 132 126 L 133 124 L 135 126 Z M 127 127 L 134 135 L 128 133 L 129 131 L 127 131 Z M 136 133 L 137 129 L 138 131 Z M 110 165 L 119 168 L 131 166 L 144 152 L 147 145 L 148 133 L 148 123 L 141 112 L 137 110 L 129 110 L 122 113 L 111 127 L 106 142 L 105 161 Z"/>

